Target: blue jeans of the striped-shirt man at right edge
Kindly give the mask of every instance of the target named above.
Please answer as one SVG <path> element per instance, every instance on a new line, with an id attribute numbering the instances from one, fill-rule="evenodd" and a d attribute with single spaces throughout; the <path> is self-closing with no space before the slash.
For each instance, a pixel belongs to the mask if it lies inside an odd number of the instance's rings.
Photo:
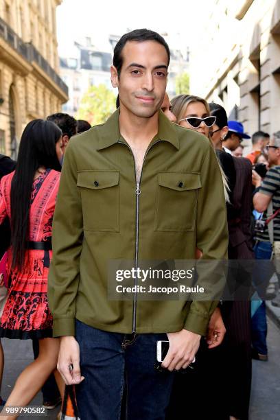
<path id="1" fill-rule="evenodd" d="M 272 253 L 272 246 L 270 242 L 258 241 L 254 247 L 256 259 L 270 259 Z M 269 271 L 265 266 L 264 271 Z M 258 272 L 259 279 L 269 279 L 272 272 Z M 254 282 L 254 279 L 253 279 Z M 266 285 L 266 281 L 264 281 Z M 266 345 L 266 336 L 268 334 L 268 325 L 266 323 L 266 303 L 262 301 L 261 306 L 257 309 L 251 321 L 252 331 L 252 346 L 260 354 L 267 354 L 268 347 Z"/>

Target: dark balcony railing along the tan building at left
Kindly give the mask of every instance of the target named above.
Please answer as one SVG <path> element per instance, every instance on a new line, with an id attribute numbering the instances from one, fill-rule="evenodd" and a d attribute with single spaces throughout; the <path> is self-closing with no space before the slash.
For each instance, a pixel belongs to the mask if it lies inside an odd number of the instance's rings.
<path id="1" fill-rule="evenodd" d="M 49 65 L 47 60 L 37 51 L 32 43 L 24 43 L 12 28 L 0 18 L 0 36 L 3 38 L 16 52 L 18 52 L 28 62 L 36 62 L 45 73 L 54 80 L 60 89 L 68 95 L 68 86 L 63 82 L 59 75 Z"/>

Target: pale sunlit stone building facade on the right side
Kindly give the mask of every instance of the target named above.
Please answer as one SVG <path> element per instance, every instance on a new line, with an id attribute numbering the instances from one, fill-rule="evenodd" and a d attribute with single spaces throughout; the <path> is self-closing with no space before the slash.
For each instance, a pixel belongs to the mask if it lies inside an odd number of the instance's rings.
<path id="1" fill-rule="evenodd" d="M 191 93 L 246 132 L 280 130 L 280 0 L 211 0 L 191 56 Z"/>

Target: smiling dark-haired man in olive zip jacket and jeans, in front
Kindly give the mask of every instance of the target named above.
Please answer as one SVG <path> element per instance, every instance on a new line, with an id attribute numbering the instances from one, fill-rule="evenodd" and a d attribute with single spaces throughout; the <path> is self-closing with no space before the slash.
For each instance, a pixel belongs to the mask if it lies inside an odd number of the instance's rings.
<path id="1" fill-rule="evenodd" d="M 66 384 L 78 384 L 82 420 L 119 419 L 125 384 L 128 419 L 163 420 L 173 371 L 194 360 L 218 304 L 143 301 L 137 290 L 130 300 L 107 295 L 108 266 L 116 259 L 138 268 L 145 260 L 194 259 L 196 248 L 203 259 L 226 257 L 215 152 L 208 139 L 160 110 L 169 61 L 156 32 L 122 36 L 111 67 L 119 108 L 69 143 L 62 167 L 49 305 L 54 336 L 61 337 L 58 369 Z M 209 275 L 203 284 L 210 287 Z M 159 372 L 156 341 L 167 338 Z"/>

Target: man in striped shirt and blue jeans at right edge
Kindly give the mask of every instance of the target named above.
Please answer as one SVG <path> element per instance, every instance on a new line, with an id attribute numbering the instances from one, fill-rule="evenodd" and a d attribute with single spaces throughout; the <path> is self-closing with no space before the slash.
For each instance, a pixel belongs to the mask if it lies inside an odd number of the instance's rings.
<path id="1" fill-rule="evenodd" d="M 253 171 L 253 184 L 255 185 L 255 194 L 253 196 L 253 205 L 255 210 L 262 215 L 262 220 L 266 221 L 277 210 L 280 209 L 280 131 L 272 136 L 269 145 L 266 146 L 268 152 L 268 163 L 270 170 L 266 176 L 261 178 L 257 172 Z M 257 231 L 255 234 L 255 257 L 256 259 L 271 259 L 274 253 L 274 262 L 277 271 L 278 281 L 280 283 L 280 214 L 275 215 L 267 224 L 263 232 Z M 274 274 L 272 266 L 263 265 L 261 270 L 255 275 L 258 283 L 259 296 L 262 299 L 266 297 L 266 286 L 269 279 Z M 280 307 L 280 288 L 272 305 Z M 266 302 L 261 305 L 252 318 L 252 347 L 253 358 L 257 360 L 268 360 L 268 347 L 266 344 L 267 323 L 266 323 Z"/>

